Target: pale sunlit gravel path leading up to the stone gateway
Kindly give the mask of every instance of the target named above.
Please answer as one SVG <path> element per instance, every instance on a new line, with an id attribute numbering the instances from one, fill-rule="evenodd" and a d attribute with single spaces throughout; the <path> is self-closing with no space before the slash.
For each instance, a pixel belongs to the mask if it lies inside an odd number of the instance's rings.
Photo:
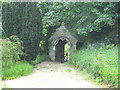
<path id="1" fill-rule="evenodd" d="M 31 75 L 5 83 L 10 88 L 101 88 L 86 81 L 75 67 L 51 61 L 36 65 Z"/>

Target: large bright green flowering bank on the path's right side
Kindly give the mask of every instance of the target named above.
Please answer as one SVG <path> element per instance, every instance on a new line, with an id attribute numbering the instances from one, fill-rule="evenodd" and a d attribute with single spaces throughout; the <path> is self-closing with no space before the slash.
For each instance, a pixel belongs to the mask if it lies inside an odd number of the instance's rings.
<path id="1" fill-rule="evenodd" d="M 98 82 L 104 81 L 111 86 L 118 86 L 117 46 L 82 48 L 70 57 L 70 63 L 81 70 L 87 70 Z"/>

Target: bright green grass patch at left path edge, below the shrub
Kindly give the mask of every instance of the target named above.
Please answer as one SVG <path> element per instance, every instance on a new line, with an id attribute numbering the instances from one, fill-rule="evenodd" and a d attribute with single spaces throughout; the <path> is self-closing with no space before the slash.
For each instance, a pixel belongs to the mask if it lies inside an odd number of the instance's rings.
<path id="1" fill-rule="evenodd" d="M 3 80 L 15 79 L 21 76 L 29 75 L 33 72 L 33 66 L 27 62 L 20 62 L 11 67 L 2 69 Z"/>

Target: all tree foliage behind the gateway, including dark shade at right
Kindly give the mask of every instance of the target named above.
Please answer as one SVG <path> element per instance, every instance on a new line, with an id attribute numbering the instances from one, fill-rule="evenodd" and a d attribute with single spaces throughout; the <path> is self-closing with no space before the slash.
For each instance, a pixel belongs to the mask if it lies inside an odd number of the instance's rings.
<path id="1" fill-rule="evenodd" d="M 118 3 L 41 2 L 39 7 L 43 21 L 41 51 L 48 51 L 48 39 L 62 22 L 70 32 L 86 36 L 86 42 L 118 42 Z"/>

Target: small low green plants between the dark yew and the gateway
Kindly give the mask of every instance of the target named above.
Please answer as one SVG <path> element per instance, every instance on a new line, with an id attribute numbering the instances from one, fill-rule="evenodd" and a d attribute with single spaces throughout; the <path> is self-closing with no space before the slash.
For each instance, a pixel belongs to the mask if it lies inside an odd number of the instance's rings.
<path id="1" fill-rule="evenodd" d="M 30 63 L 32 65 L 35 65 L 35 64 L 39 64 L 39 63 L 41 63 L 41 62 L 43 62 L 45 60 L 48 60 L 48 59 L 49 59 L 48 55 L 42 55 L 42 56 L 38 55 L 36 60 L 33 60 Z"/>

